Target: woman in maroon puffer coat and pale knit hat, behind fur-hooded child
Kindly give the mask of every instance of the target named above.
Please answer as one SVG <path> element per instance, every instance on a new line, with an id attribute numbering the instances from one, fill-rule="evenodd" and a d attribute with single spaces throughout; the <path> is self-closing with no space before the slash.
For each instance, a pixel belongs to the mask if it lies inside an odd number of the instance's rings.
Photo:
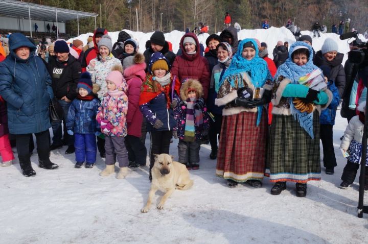
<path id="1" fill-rule="evenodd" d="M 200 55 L 196 34 L 187 33 L 180 40 L 181 55 L 176 56 L 171 68 L 172 76 L 183 83 L 186 79 L 196 79 L 203 87 L 203 98 L 207 100 L 210 85 L 210 66 Z"/>

